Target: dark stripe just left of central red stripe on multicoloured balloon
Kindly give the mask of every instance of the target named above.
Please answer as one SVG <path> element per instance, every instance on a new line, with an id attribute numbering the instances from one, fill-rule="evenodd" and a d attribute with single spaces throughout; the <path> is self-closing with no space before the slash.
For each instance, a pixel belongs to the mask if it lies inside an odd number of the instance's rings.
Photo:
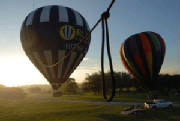
<path id="1" fill-rule="evenodd" d="M 139 34 L 136 35 L 136 42 L 137 42 L 137 45 L 138 45 L 138 48 L 139 48 L 139 52 L 140 52 L 140 55 L 141 55 L 141 58 L 142 58 L 142 63 L 143 63 L 143 66 L 144 66 L 144 69 L 145 69 L 145 77 L 144 79 L 145 80 L 149 80 L 150 79 L 150 71 L 148 69 L 148 63 L 147 63 L 147 60 L 146 60 L 146 57 L 145 57 L 145 54 L 144 54 L 144 50 L 143 50 L 143 47 L 142 47 L 142 40 L 139 36 Z"/>

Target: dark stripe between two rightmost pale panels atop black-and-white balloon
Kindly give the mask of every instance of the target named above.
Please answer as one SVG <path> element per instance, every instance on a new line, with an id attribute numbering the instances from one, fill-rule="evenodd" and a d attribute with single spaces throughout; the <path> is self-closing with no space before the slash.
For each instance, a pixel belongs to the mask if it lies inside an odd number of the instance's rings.
<path id="1" fill-rule="evenodd" d="M 71 8 L 68 8 L 68 7 L 66 7 L 66 9 L 67 9 L 68 19 L 69 19 L 68 24 L 70 24 L 70 25 L 76 25 L 76 17 L 75 17 L 75 15 L 74 15 L 73 10 L 72 10 Z"/>

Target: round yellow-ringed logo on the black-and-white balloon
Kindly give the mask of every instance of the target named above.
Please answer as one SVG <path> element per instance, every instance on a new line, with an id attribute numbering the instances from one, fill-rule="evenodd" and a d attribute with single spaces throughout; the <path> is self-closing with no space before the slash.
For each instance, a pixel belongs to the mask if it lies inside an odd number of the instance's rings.
<path id="1" fill-rule="evenodd" d="M 76 31 L 74 27 L 70 25 L 64 25 L 60 28 L 60 36 L 64 40 L 72 40 L 75 37 Z"/>

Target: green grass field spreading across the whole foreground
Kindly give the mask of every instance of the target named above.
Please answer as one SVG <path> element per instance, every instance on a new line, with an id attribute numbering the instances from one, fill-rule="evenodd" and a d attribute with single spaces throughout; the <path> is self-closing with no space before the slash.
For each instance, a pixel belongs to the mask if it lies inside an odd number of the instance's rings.
<path id="1" fill-rule="evenodd" d="M 49 98 L 48 96 L 44 96 Z M 71 98 L 70 98 L 71 97 Z M 62 99 L 85 99 L 62 96 Z M 93 97 L 93 96 L 92 96 Z M 95 97 L 94 97 L 95 98 Z M 57 98 L 56 98 L 57 99 Z M 92 99 L 92 98 L 91 98 Z M 98 99 L 101 100 L 101 99 Z M 139 115 L 120 114 L 128 106 L 96 103 L 73 103 L 43 100 L 31 96 L 24 99 L 0 99 L 0 121 L 176 121 L 178 109 L 145 111 Z"/>

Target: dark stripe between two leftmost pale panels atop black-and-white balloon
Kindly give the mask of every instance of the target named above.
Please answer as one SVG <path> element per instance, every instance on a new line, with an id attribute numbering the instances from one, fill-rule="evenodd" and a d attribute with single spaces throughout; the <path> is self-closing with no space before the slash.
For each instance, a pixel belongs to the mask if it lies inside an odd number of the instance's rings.
<path id="1" fill-rule="evenodd" d="M 34 17 L 33 17 L 33 20 L 32 20 L 32 26 L 36 29 L 39 28 L 39 25 L 40 25 L 40 16 L 41 16 L 41 12 L 43 10 L 44 7 L 41 7 L 41 8 L 38 8 L 36 11 L 35 11 L 35 14 L 34 14 Z"/>

